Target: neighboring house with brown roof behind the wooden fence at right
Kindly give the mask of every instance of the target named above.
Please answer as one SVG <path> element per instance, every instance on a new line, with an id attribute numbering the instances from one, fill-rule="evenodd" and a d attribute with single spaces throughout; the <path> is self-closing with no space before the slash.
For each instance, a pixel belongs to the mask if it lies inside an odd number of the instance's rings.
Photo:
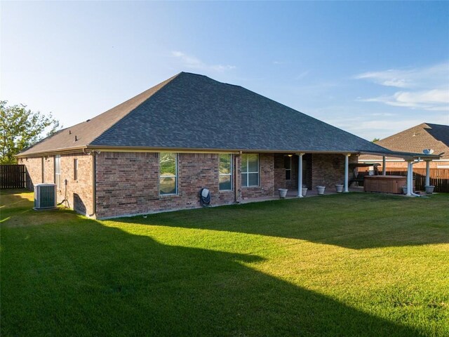
<path id="1" fill-rule="evenodd" d="M 423 150 L 434 150 L 434 154 L 442 154 L 440 159 L 429 161 L 430 169 L 449 169 L 449 126 L 441 124 L 422 123 L 413 128 L 401 131 L 376 142 L 377 145 L 392 151 L 422 153 Z M 364 154 L 358 158 L 361 163 L 382 162 L 382 157 Z M 385 166 L 390 171 L 406 169 L 407 162 L 402 158 L 387 157 Z M 426 162 L 421 161 L 415 168 L 425 168 Z"/>

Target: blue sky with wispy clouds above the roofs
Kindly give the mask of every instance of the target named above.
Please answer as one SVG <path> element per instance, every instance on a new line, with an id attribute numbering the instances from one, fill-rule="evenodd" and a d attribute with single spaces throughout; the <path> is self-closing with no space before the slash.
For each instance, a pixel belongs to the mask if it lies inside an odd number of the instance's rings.
<path id="1" fill-rule="evenodd" d="M 368 140 L 449 124 L 449 1 L 1 2 L 0 98 L 64 126 L 181 71 Z"/>

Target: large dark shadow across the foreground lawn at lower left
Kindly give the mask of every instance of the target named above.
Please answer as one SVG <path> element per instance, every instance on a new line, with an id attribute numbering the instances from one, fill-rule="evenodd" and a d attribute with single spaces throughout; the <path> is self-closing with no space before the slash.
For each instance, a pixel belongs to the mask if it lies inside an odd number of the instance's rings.
<path id="1" fill-rule="evenodd" d="M 245 265 L 258 256 L 63 219 L 29 227 L 6 220 L 2 336 L 419 336 Z"/>

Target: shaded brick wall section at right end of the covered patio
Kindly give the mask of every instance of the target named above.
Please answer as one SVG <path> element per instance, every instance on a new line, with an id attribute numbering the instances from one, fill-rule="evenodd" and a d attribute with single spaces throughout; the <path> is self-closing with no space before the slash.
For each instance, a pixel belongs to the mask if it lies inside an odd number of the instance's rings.
<path id="1" fill-rule="evenodd" d="M 356 163 L 355 155 L 349 157 L 349 164 Z M 312 154 L 311 187 L 326 186 L 335 189 L 335 184 L 344 183 L 344 155 L 343 154 Z M 351 179 L 349 170 L 349 179 Z M 310 186 L 307 186 L 310 188 Z"/>

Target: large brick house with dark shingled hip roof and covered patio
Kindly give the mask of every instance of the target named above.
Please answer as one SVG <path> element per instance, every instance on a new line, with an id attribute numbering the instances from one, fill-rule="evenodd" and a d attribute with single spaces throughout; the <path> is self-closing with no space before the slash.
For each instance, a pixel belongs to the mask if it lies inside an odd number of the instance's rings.
<path id="1" fill-rule="evenodd" d="M 348 186 L 357 155 L 394 153 L 252 91 L 181 72 L 18 154 L 33 184 L 112 218 L 272 197 L 280 187 Z M 434 156 L 429 156 L 434 157 Z M 297 194 L 299 197 L 301 193 Z"/>

